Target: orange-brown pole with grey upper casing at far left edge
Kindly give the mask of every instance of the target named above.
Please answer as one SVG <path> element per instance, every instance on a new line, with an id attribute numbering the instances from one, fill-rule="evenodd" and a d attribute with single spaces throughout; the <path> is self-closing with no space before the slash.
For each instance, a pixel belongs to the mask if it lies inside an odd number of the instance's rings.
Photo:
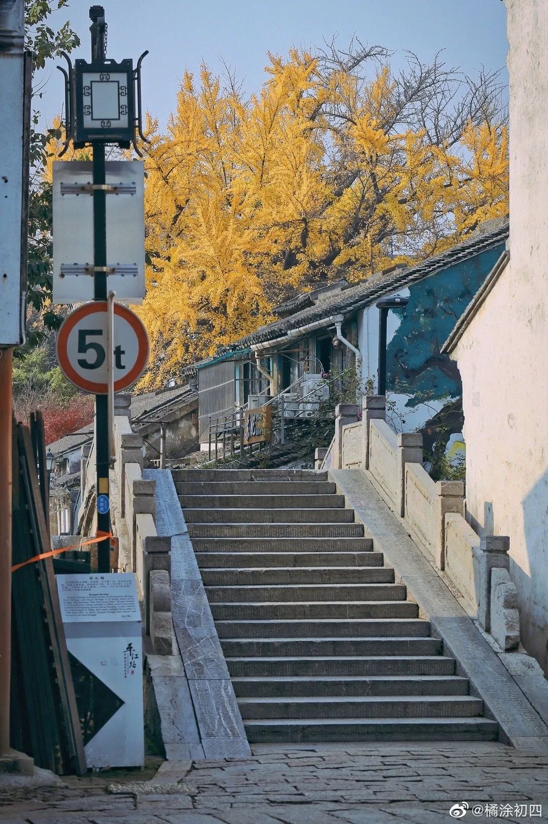
<path id="1" fill-rule="evenodd" d="M 31 55 L 24 0 L 0 0 L 0 771 L 23 769 L 10 749 L 12 635 L 12 362 L 24 343 Z M 29 762 L 29 759 L 26 759 Z M 30 761 L 30 767 L 32 761 Z"/>

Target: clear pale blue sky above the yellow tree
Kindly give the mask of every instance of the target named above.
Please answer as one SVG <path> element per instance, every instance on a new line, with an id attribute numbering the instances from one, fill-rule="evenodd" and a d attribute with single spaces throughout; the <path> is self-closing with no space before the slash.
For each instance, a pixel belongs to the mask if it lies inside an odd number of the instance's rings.
<path id="1" fill-rule="evenodd" d="M 90 57 L 89 7 L 72 0 L 56 12 L 55 25 L 69 19 L 82 46 L 72 59 Z M 149 49 L 143 62 L 143 106 L 160 119 L 174 108 L 185 68 L 197 73 L 204 61 L 223 71 L 221 58 L 234 68 L 248 93 L 265 79 L 268 50 L 286 54 L 291 45 L 322 45 L 338 34 L 348 44 L 357 35 L 366 44 L 396 52 L 398 68 L 405 49 L 422 60 L 444 49 L 448 64 L 467 73 L 504 68 L 506 21 L 500 0 L 104 0 L 109 24 L 107 56 L 132 57 Z M 44 70 L 44 95 L 37 101 L 51 122 L 63 102 L 63 78 L 54 65 Z"/>

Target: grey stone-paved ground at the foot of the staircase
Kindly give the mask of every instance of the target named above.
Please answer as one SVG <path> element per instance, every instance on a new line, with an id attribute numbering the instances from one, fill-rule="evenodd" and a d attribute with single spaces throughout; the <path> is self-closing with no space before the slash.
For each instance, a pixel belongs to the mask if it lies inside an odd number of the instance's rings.
<path id="1" fill-rule="evenodd" d="M 0 822 L 437 824 L 464 802 L 465 821 L 548 821 L 548 755 L 501 744 L 261 745 L 247 760 L 158 763 L 0 794 Z"/>

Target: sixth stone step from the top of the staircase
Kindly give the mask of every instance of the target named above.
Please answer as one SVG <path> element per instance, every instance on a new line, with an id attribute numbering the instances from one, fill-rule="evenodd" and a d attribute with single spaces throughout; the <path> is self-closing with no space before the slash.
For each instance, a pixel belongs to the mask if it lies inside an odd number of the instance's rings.
<path id="1" fill-rule="evenodd" d="M 196 538 L 195 552 L 371 552 L 371 538 Z"/>

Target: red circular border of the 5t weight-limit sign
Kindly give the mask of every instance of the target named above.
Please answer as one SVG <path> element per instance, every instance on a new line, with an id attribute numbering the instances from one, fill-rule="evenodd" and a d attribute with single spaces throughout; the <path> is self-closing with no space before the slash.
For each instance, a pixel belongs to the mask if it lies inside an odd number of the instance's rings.
<path id="1" fill-rule="evenodd" d="M 93 301 L 91 303 L 85 303 L 83 306 L 77 307 L 77 309 L 72 311 L 70 315 L 65 318 L 61 328 L 58 331 L 55 348 L 57 351 L 59 366 L 74 386 L 77 386 L 78 389 L 82 389 L 83 391 L 91 392 L 92 395 L 106 395 L 108 391 L 107 384 L 86 381 L 86 378 L 81 377 L 76 369 L 72 368 L 67 356 L 68 335 L 70 335 L 78 321 L 81 321 L 81 319 L 86 317 L 86 315 L 95 314 L 97 311 L 106 312 L 106 301 Z M 119 392 L 123 389 L 127 389 L 128 386 L 131 386 L 132 383 L 137 381 L 137 378 L 141 377 L 142 373 L 145 371 L 150 354 L 150 343 L 142 320 L 135 314 L 135 312 L 128 309 L 128 307 L 123 306 L 121 303 L 115 303 L 114 315 L 123 317 L 125 321 L 128 321 L 128 324 L 137 335 L 137 341 L 139 344 L 138 356 L 135 365 L 125 377 L 118 378 L 118 381 L 114 382 L 114 391 Z"/>

